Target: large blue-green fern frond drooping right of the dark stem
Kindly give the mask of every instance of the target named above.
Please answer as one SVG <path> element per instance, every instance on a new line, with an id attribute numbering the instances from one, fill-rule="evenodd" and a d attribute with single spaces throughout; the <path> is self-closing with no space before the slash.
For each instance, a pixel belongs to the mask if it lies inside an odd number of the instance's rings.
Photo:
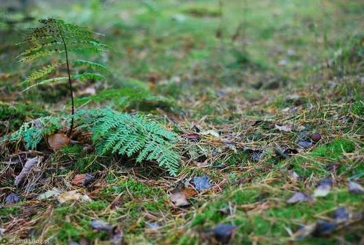
<path id="1" fill-rule="evenodd" d="M 80 110 L 76 117 L 85 120 L 80 125 L 89 125 L 98 154 L 136 156 L 138 163 L 157 161 L 172 176 L 177 175 L 180 156 L 174 146 L 178 141 L 174 132 L 141 115 L 129 115 L 109 108 Z"/>

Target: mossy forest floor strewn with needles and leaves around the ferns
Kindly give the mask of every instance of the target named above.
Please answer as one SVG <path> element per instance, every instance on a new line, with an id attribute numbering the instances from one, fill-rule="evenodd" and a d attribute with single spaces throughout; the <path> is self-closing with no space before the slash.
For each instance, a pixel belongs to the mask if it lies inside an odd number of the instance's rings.
<path id="1" fill-rule="evenodd" d="M 75 84 L 76 110 L 159 121 L 179 135 L 181 168 L 173 177 L 82 143 L 2 145 L 0 243 L 364 243 L 364 3 L 222 2 L 32 10 L 85 25 L 113 47 L 91 57 L 111 70 L 106 82 Z M 21 93 L 34 64 L 15 62 L 14 44 L 28 24 L 0 26 L 0 137 L 70 112 L 67 84 Z M 27 185 L 15 187 L 34 156 Z"/>

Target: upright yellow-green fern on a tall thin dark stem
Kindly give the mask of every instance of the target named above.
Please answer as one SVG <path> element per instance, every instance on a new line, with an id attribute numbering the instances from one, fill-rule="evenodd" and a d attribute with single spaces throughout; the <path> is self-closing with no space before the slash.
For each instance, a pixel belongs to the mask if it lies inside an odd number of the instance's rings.
<path id="1" fill-rule="evenodd" d="M 93 72 L 94 69 L 102 72 L 109 72 L 109 70 L 97 62 L 88 60 L 71 60 L 69 53 L 77 51 L 91 51 L 100 53 L 106 51 L 109 47 L 93 36 L 98 35 L 94 32 L 87 30 L 86 27 L 80 27 L 70 23 L 65 23 L 60 19 L 48 18 L 41 19 L 41 26 L 31 28 L 29 32 L 25 33 L 23 40 L 18 45 L 27 45 L 27 49 L 23 51 L 17 58 L 20 62 L 32 62 L 34 60 L 45 60 L 47 56 L 54 56 L 54 62 L 47 64 L 41 69 L 32 72 L 23 83 L 27 86 L 24 91 L 41 84 L 49 84 L 52 82 L 68 81 L 69 96 L 71 97 L 71 115 L 74 115 L 75 108 L 73 102 L 73 87 L 72 82 L 75 80 L 104 80 L 104 75 Z M 63 58 L 59 54 L 65 54 Z M 58 78 L 48 78 L 51 73 L 56 71 L 59 67 L 66 65 L 67 76 Z M 70 67 L 89 67 L 91 72 L 83 72 L 71 75 Z M 71 135 L 73 129 L 73 117 L 71 119 L 71 126 L 67 135 Z"/>

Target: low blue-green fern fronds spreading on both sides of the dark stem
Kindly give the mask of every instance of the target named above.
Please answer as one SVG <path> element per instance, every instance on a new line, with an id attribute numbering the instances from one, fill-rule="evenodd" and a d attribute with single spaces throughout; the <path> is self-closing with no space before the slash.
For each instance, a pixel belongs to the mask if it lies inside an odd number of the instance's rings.
<path id="1" fill-rule="evenodd" d="M 59 117 L 40 117 L 25 122 L 19 130 L 10 135 L 10 141 L 23 141 L 27 149 L 36 149 L 38 143 L 75 119 L 78 128 L 93 132 L 95 150 L 98 154 L 121 154 L 136 156 L 136 161 L 156 161 L 175 176 L 179 170 L 179 154 L 174 143 L 177 135 L 163 129 L 159 124 L 140 115 L 119 113 L 111 109 L 80 110 L 75 115 Z"/>

